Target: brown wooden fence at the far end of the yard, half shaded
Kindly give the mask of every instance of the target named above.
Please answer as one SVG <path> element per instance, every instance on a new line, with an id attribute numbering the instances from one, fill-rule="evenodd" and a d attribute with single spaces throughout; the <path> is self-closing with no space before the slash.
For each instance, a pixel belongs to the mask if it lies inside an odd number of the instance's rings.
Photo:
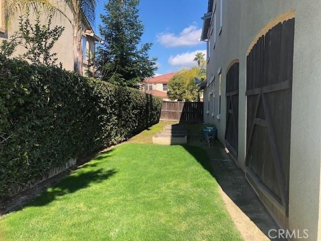
<path id="1" fill-rule="evenodd" d="M 203 122 L 203 102 L 164 101 L 161 121 Z"/>

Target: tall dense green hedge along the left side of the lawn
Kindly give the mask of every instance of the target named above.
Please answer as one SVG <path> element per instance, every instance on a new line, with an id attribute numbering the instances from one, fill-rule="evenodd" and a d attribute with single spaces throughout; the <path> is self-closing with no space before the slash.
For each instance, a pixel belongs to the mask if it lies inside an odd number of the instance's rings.
<path id="1" fill-rule="evenodd" d="M 0 57 L 0 198 L 157 123 L 161 105 L 137 89 Z"/>

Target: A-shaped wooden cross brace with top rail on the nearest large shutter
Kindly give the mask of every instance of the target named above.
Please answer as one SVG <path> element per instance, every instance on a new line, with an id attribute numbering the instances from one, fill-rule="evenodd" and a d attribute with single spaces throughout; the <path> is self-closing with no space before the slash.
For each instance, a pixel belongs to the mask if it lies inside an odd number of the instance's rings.
<path id="1" fill-rule="evenodd" d="M 246 162 L 248 162 L 248 156 L 249 156 L 249 151 L 250 151 L 250 147 L 251 147 L 251 142 L 252 142 L 252 137 L 253 137 L 255 125 L 267 128 L 269 144 L 270 144 L 271 152 L 272 152 L 272 161 L 273 161 L 274 171 L 276 174 L 278 187 L 279 187 L 279 190 L 281 193 L 280 196 L 281 196 L 282 206 L 284 206 L 284 207 L 287 207 L 287 204 L 288 204 L 288 197 L 286 195 L 286 187 L 285 187 L 285 178 L 282 173 L 280 155 L 278 153 L 277 146 L 276 146 L 276 139 L 275 139 L 275 134 L 274 134 L 274 130 L 273 130 L 271 114 L 270 114 L 268 103 L 265 98 L 265 94 L 269 93 L 269 92 L 273 92 L 273 91 L 288 89 L 289 87 L 290 87 L 289 81 L 285 80 L 285 81 L 282 81 L 282 82 L 279 82 L 276 84 L 271 84 L 268 86 L 250 89 L 250 90 L 246 91 L 247 96 L 257 95 L 257 99 L 256 99 L 255 108 L 254 108 L 253 122 L 250 127 L 250 135 L 249 135 L 249 140 L 248 140 L 248 144 L 247 144 L 245 160 L 246 160 Z M 262 101 L 265 119 L 256 117 L 260 101 Z"/>

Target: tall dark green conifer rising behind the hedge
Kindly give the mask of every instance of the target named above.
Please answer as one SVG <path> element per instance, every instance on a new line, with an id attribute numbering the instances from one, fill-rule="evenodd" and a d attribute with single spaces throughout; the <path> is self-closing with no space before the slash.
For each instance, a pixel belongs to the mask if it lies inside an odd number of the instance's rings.
<path id="1" fill-rule="evenodd" d="M 104 43 L 98 47 L 97 69 L 103 80 L 137 87 L 156 70 L 149 58 L 151 43 L 140 44 L 144 26 L 138 15 L 139 0 L 109 0 L 100 15 L 99 31 Z M 139 48 L 140 45 L 140 48 Z"/>

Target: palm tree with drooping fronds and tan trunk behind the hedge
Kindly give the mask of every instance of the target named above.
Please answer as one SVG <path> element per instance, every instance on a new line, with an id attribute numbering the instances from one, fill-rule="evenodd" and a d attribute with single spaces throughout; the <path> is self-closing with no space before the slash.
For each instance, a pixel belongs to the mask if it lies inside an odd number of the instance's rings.
<path id="1" fill-rule="evenodd" d="M 60 14 L 64 16 L 73 27 L 74 44 L 74 71 L 82 74 L 82 49 L 81 32 L 82 23 L 93 23 L 95 21 L 95 8 L 97 0 L 65 0 L 65 3 L 71 10 L 71 19 L 65 14 L 65 11 L 52 0 L 7 0 L 5 1 L 5 25 L 6 29 L 10 26 L 11 20 L 18 14 L 27 9 L 37 11 L 39 8 L 48 14 Z"/>

